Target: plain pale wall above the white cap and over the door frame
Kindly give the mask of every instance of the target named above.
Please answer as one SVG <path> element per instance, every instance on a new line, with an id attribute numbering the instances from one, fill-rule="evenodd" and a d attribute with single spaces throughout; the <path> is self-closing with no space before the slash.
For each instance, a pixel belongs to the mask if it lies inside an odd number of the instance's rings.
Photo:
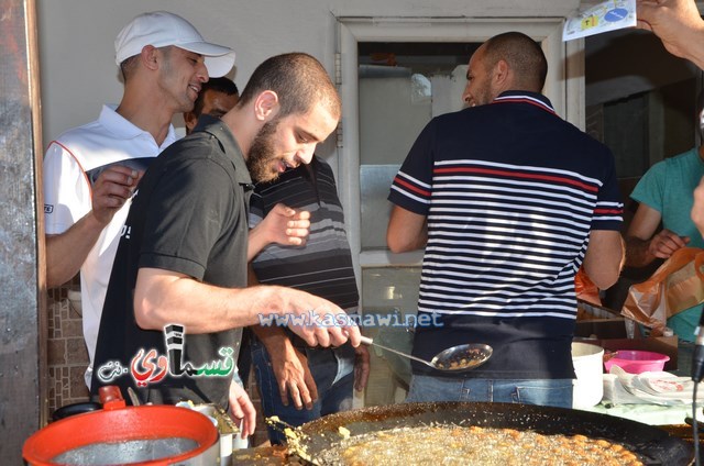
<path id="1" fill-rule="evenodd" d="M 209 41 L 237 52 L 243 87 L 268 56 L 307 52 L 332 74 L 339 16 L 564 16 L 579 0 L 36 0 L 44 146 L 63 131 L 95 120 L 122 95 L 113 41 L 145 11 L 188 19 Z"/>

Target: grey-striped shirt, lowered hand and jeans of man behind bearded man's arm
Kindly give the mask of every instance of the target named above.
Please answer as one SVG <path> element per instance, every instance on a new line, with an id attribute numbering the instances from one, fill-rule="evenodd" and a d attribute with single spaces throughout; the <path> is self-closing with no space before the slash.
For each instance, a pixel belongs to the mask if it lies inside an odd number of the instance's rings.
<path id="1" fill-rule="evenodd" d="M 314 155 L 310 164 L 257 184 L 250 201 L 250 226 L 260 224 L 279 204 L 309 212 L 310 233 L 305 245 L 271 244 L 262 249 L 251 263 L 256 280 L 308 291 L 355 313 L 360 296 L 330 165 Z M 265 417 L 277 415 L 288 424 L 301 425 L 352 409 L 353 387 L 363 390 L 369 375 L 365 346 L 310 347 L 285 328 L 251 329 L 256 335 L 252 365 Z M 268 436 L 273 444 L 285 440 L 272 428 Z"/>

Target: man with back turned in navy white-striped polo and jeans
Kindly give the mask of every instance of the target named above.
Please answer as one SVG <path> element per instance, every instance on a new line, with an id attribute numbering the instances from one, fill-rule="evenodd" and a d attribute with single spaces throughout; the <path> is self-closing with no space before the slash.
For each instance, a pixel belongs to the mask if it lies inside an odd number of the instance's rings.
<path id="1" fill-rule="evenodd" d="M 623 202 L 610 151 L 540 93 L 540 46 L 509 32 L 472 56 L 469 108 L 435 118 L 394 179 L 387 243 L 426 247 L 414 355 L 463 343 L 494 348 L 454 377 L 414 363 L 408 401 L 572 406 L 574 276 L 619 275 Z"/>

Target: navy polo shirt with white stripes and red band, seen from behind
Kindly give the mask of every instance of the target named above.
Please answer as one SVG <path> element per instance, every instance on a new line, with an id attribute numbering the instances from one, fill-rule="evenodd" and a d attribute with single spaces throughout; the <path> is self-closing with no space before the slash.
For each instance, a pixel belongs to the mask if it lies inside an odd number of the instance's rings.
<path id="1" fill-rule="evenodd" d="M 476 341 L 501 348 L 477 376 L 510 368 L 516 378 L 571 378 L 563 350 L 576 314 L 574 275 L 590 230 L 618 229 L 615 181 L 610 152 L 539 95 L 505 92 L 435 119 L 389 199 L 428 218 L 419 311 L 462 330 L 420 329 L 414 353 Z M 517 364 L 521 348 L 528 356 Z M 538 360 L 543 351 L 559 356 Z"/>

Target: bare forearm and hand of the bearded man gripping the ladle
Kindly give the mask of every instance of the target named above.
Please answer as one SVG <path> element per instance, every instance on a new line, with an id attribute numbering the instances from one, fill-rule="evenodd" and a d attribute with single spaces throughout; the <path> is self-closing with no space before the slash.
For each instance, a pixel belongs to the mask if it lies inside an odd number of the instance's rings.
<path id="1" fill-rule="evenodd" d="M 198 312 L 194 312 L 197 309 Z M 158 268 L 140 268 L 134 290 L 134 317 L 142 329 L 162 330 L 178 322 L 189 333 L 212 333 L 260 323 L 262 315 L 305 315 L 304 324 L 289 328 L 311 346 L 360 344 L 360 330 L 327 325 L 344 311 L 334 303 L 293 288 L 256 286 L 221 288 L 186 275 Z M 332 315 L 327 315 L 332 314 Z M 327 315 L 327 317 L 326 317 Z"/>

